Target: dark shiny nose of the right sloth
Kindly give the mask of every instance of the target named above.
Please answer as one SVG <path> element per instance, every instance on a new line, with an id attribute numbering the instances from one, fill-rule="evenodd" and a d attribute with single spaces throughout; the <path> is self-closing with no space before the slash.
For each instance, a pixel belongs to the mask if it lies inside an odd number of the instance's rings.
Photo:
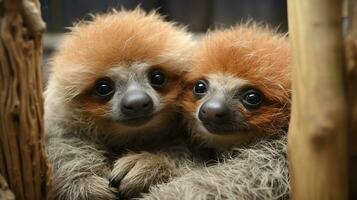
<path id="1" fill-rule="evenodd" d="M 200 108 L 198 118 L 203 122 L 226 122 L 230 117 L 230 110 L 221 99 L 210 99 Z"/>

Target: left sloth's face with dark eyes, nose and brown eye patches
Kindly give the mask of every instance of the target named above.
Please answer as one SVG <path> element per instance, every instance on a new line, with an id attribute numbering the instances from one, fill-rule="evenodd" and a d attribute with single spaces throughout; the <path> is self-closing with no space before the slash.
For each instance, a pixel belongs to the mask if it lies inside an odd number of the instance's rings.
<path id="1" fill-rule="evenodd" d="M 114 65 L 75 100 L 82 112 L 105 123 L 135 128 L 175 113 L 178 74 L 148 63 Z"/>

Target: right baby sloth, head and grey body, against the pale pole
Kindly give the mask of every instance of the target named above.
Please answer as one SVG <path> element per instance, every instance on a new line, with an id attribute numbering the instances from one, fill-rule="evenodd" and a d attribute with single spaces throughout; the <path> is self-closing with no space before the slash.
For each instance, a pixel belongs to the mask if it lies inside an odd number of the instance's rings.
<path id="1" fill-rule="evenodd" d="M 288 42 L 268 28 L 208 33 L 185 75 L 182 104 L 194 146 L 219 153 L 219 163 L 190 169 L 145 199 L 287 198 L 289 62 Z"/>

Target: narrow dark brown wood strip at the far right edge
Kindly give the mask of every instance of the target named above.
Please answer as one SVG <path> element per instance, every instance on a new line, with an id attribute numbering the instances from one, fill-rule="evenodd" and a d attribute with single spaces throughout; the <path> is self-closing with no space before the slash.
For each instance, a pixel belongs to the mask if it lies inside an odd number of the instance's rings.
<path id="1" fill-rule="evenodd" d="M 357 2 L 348 2 L 348 31 L 345 40 L 346 80 L 349 107 L 349 194 L 357 199 Z"/>

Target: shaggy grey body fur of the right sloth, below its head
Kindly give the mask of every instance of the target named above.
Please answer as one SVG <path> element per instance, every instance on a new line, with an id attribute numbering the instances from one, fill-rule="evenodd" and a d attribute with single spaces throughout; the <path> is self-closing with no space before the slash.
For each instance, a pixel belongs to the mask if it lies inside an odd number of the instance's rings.
<path id="1" fill-rule="evenodd" d="M 288 199 L 286 154 L 286 137 L 235 148 L 217 165 L 187 168 L 186 174 L 152 187 L 142 199 Z"/>

